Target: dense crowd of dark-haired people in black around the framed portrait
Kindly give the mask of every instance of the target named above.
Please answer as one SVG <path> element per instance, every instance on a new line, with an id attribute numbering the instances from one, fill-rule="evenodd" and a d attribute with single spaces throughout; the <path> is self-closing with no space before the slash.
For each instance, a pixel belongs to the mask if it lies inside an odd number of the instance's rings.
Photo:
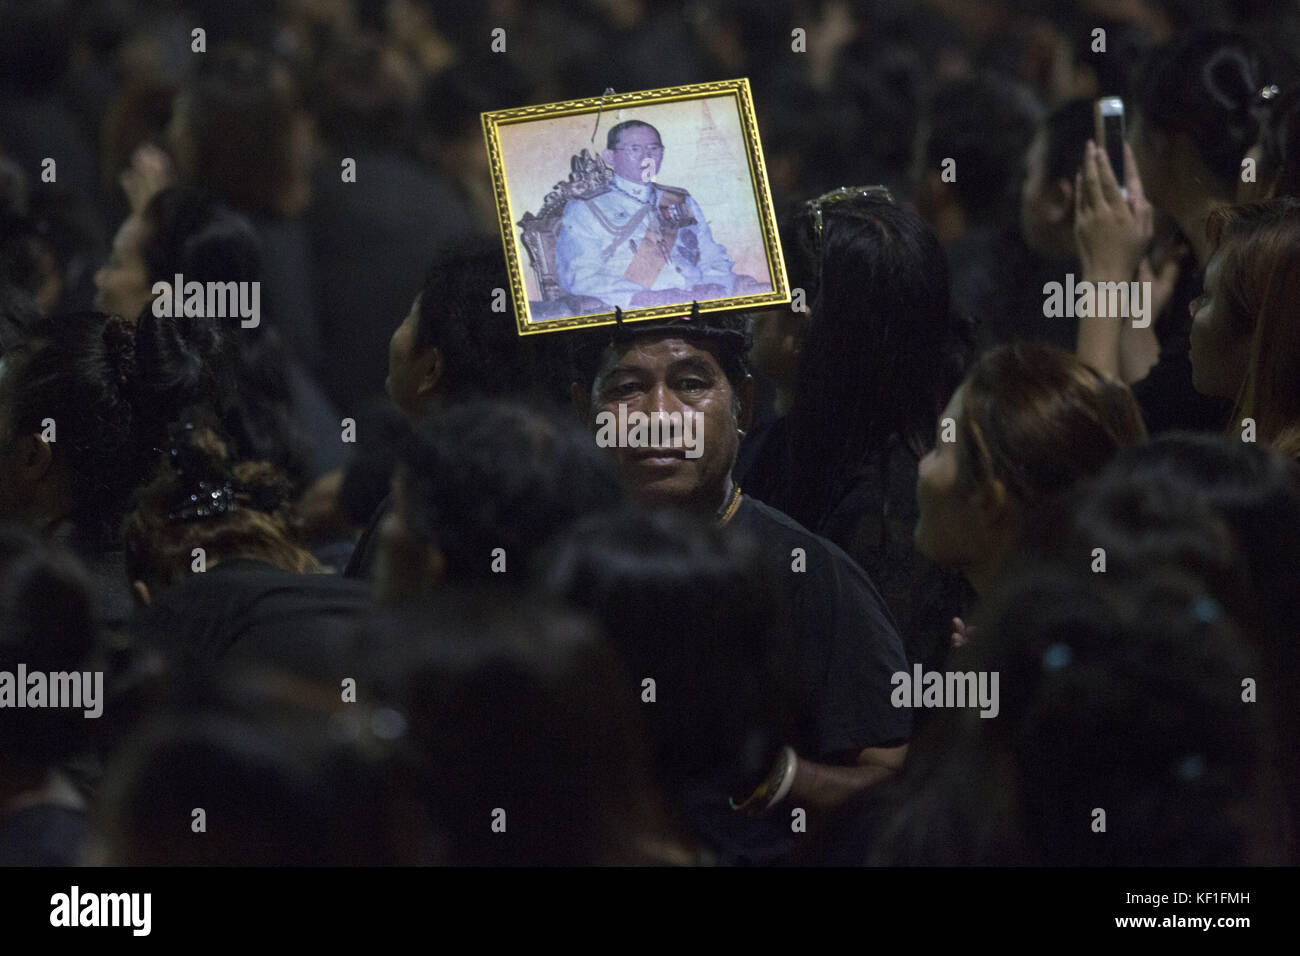
<path id="1" fill-rule="evenodd" d="M 1297 51 L 0 0 L 0 865 L 1294 865 Z M 740 77 L 806 308 L 520 336 L 481 113 Z"/>

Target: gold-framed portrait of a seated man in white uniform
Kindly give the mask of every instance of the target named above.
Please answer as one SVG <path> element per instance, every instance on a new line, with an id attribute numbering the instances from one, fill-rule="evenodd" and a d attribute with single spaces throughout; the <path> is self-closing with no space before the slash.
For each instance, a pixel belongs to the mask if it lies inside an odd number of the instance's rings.
<path id="1" fill-rule="evenodd" d="M 748 79 L 482 122 L 520 334 L 790 300 Z"/>

